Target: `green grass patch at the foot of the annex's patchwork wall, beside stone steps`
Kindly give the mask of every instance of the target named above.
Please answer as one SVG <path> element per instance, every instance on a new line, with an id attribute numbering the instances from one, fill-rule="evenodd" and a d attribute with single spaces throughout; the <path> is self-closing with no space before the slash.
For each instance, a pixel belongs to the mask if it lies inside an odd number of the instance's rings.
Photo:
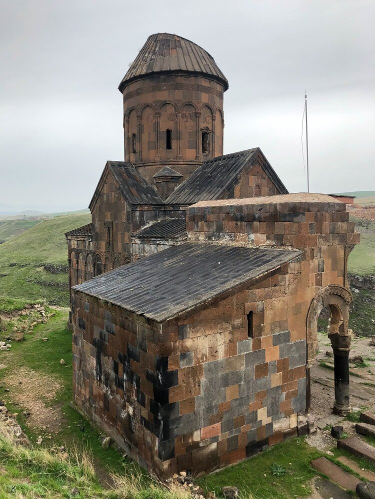
<path id="1" fill-rule="evenodd" d="M 306 497 L 311 493 L 308 482 L 316 476 L 310 462 L 321 455 L 303 439 L 293 438 L 196 482 L 207 492 L 215 492 L 216 496 L 220 496 L 221 487 L 235 486 L 246 498 Z M 275 464 L 279 470 L 286 472 L 280 476 L 273 475 L 272 465 L 274 467 Z"/>

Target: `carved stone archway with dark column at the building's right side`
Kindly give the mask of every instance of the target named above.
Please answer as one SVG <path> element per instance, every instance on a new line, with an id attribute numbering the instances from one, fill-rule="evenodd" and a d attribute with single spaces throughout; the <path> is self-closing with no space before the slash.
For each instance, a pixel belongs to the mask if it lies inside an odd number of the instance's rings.
<path id="1" fill-rule="evenodd" d="M 306 409 L 310 408 L 310 367 L 315 362 L 317 350 L 317 319 L 321 310 L 330 312 L 330 332 L 334 357 L 334 404 L 333 412 L 346 415 L 351 411 L 349 404 L 349 351 L 351 337 L 348 331 L 349 305 L 352 296 L 342 286 L 330 284 L 321 289 L 312 300 L 307 313 L 307 366 L 306 366 Z"/>

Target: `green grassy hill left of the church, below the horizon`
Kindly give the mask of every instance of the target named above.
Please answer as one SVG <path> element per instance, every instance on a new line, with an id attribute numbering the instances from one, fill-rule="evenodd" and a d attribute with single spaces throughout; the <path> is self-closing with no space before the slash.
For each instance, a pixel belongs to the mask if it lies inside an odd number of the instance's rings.
<path id="1" fill-rule="evenodd" d="M 44 264 L 67 266 L 64 233 L 91 221 L 91 215 L 65 215 L 38 223 L 0 245 L 0 295 L 68 305 L 67 273 L 51 274 Z"/>

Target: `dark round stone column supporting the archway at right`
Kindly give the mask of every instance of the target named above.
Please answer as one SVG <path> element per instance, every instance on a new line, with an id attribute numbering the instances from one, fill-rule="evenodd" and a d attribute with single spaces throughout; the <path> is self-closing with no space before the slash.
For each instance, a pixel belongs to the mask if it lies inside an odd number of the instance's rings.
<path id="1" fill-rule="evenodd" d="M 334 404 L 333 413 L 346 416 L 351 412 L 349 404 L 349 352 L 350 336 L 328 334 L 334 358 Z"/>

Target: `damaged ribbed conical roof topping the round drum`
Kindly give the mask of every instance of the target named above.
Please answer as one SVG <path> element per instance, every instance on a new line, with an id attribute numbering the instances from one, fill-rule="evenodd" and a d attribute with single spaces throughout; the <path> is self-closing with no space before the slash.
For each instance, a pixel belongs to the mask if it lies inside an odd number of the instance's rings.
<path id="1" fill-rule="evenodd" d="M 229 86 L 228 80 L 213 57 L 202 47 L 176 34 L 156 33 L 148 36 L 118 89 L 122 92 L 127 83 L 132 80 L 167 71 L 187 71 L 209 75 L 223 84 L 224 91 Z"/>

